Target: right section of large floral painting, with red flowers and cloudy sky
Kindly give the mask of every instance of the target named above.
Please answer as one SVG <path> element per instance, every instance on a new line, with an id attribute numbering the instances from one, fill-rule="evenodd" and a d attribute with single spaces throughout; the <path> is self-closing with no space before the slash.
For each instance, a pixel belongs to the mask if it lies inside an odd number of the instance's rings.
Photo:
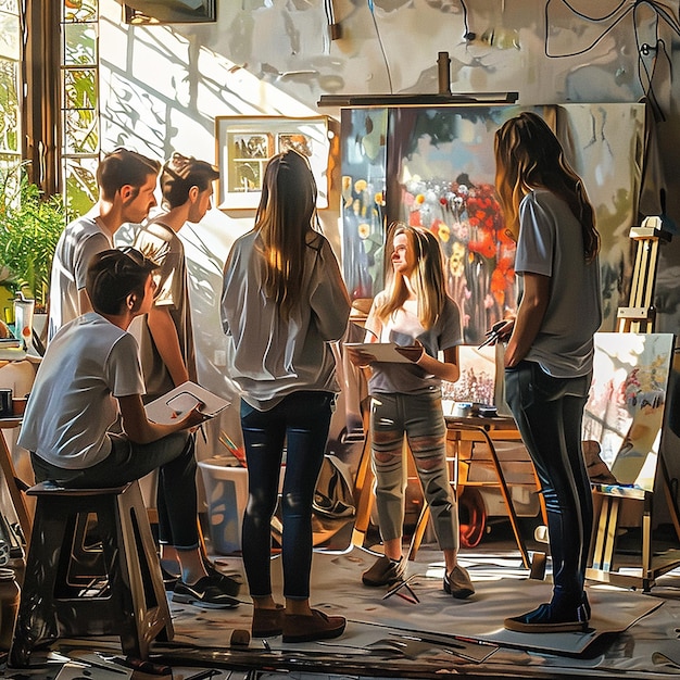
<path id="1" fill-rule="evenodd" d="M 493 139 L 516 112 L 514 106 L 404 109 L 390 129 L 389 153 L 398 169 L 387 190 L 399 198 L 394 213 L 438 237 L 466 344 L 480 343 L 515 307 L 515 243 L 505 234 L 495 196 Z"/>

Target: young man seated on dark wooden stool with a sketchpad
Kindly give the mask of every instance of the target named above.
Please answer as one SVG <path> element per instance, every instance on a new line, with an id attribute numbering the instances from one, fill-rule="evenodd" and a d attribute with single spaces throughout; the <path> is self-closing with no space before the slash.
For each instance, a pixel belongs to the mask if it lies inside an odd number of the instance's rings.
<path id="1" fill-rule="evenodd" d="M 37 481 L 117 487 L 160 468 L 168 503 L 159 538 L 176 547 L 181 580 L 175 602 L 232 607 L 231 584 L 209 575 L 199 549 L 197 463 L 191 428 L 198 407 L 172 425 L 147 419 L 138 347 L 130 322 L 149 312 L 156 264 L 131 248 L 92 256 L 86 289 L 93 312 L 63 326 L 40 364 L 18 442 L 30 451 Z"/>

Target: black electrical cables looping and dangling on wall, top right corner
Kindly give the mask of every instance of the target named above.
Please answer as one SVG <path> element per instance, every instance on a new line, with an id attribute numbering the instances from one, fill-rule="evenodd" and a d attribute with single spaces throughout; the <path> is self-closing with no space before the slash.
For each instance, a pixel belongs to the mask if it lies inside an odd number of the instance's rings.
<path id="1" fill-rule="evenodd" d="M 561 54 L 551 53 L 549 42 L 550 42 L 550 7 L 554 2 L 558 2 L 566 7 L 575 16 L 592 22 L 594 24 L 600 24 L 604 22 L 608 22 L 614 18 L 613 23 L 607 26 L 589 46 L 576 50 L 572 52 L 563 52 Z M 607 36 L 614 28 L 616 28 L 629 14 L 632 15 L 632 24 L 633 24 L 633 35 L 635 39 L 635 47 L 638 50 L 638 80 L 650 101 L 650 105 L 652 110 L 659 121 L 665 121 L 666 117 L 660 109 L 660 104 L 656 98 L 656 93 L 654 92 L 653 79 L 654 73 L 656 71 L 656 66 L 658 63 L 658 56 L 660 53 L 666 56 L 669 66 L 671 65 L 670 56 L 666 50 L 666 43 L 659 37 L 659 22 L 665 22 L 670 29 L 680 37 L 680 14 L 676 16 L 671 8 L 663 2 L 657 2 L 656 0 L 634 0 L 634 2 L 629 3 L 630 0 L 621 0 L 616 8 L 614 8 L 610 12 L 603 14 L 602 16 L 596 16 L 592 14 L 587 14 L 574 7 L 574 4 L 569 0 L 547 0 L 544 9 L 544 52 L 545 56 L 549 59 L 564 59 L 569 56 L 578 56 L 580 54 L 584 54 L 585 52 L 592 50 L 595 46 L 597 46 L 604 38 Z M 628 7 L 626 7 L 628 5 Z M 640 42 L 639 29 L 638 29 L 638 12 L 641 8 L 646 7 L 651 9 L 655 14 L 655 23 L 654 23 L 654 32 L 655 32 L 655 42 L 654 45 L 650 45 L 647 42 Z M 617 16 L 618 14 L 618 16 Z M 652 67 L 651 70 L 647 67 L 645 59 L 651 56 Z M 644 74 L 644 78 L 643 78 Z"/>

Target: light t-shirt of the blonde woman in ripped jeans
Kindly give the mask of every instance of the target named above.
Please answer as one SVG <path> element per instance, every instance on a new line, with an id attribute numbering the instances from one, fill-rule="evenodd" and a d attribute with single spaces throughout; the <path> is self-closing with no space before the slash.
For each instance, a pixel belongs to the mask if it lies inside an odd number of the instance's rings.
<path id="1" fill-rule="evenodd" d="M 429 330 L 425 330 L 418 319 L 415 301 L 407 301 L 388 319 L 380 322 L 376 315 L 376 308 L 385 299 L 385 291 L 376 295 L 366 319 L 366 327 L 375 329 L 380 342 L 406 345 L 419 340 L 425 351 L 435 358 L 438 357 L 439 352 L 462 343 L 461 312 L 451 298 L 445 298 L 444 308 Z M 366 338 L 366 341 L 369 342 L 370 338 Z M 370 368 L 373 370 L 368 379 L 370 394 L 423 394 L 441 389 L 440 378 L 426 373 L 415 363 L 374 362 Z"/>

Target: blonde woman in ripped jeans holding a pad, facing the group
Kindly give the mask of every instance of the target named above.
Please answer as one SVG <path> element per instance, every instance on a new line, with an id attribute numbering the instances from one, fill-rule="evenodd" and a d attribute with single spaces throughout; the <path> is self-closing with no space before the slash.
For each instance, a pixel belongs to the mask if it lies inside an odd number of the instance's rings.
<path id="1" fill-rule="evenodd" d="M 408 441 L 439 546 L 444 553 L 444 590 L 457 599 L 475 592 L 457 564 L 457 507 L 446 468 L 446 427 L 441 381 L 458 379 L 461 313 L 446 295 L 442 253 L 435 235 L 403 224 L 392 226 L 392 269 L 366 319 L 367 342 L 394 342 L 406 363 L 378 362 L 348 349 L 350 361 L 370 366 L 370 433 L 376 507 L 385 555 L 362 576 L 365 585 L 403 579 L 404 475 L 402 445 Z M 443 352 L 443 362 L 439 361 Z"/>

